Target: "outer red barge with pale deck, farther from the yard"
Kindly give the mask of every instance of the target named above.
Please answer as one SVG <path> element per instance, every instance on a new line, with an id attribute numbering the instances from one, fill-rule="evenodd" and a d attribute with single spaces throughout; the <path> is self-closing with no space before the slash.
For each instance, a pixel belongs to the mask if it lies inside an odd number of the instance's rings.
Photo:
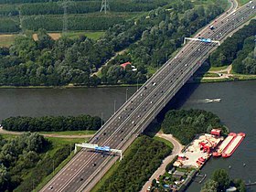
<path id="1" fill-rule="evenodd" d="M 237 136 L 233 138 L 229 145 L 225 148 L 225 150 L 222 153 L 222 157 L 227 158 L 231 156 L 238 148 L 244 137 L 245 133 L 238 133 Z"/>

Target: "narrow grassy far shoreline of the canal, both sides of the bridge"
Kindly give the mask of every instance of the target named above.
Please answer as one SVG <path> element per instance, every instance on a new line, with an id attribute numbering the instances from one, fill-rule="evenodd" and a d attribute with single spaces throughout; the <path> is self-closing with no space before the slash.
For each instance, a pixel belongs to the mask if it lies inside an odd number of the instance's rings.
<path id="1" fill-rule="evenodd" d="M 235 78 L 235 79 L 234 79 Z M 230 81 L 245 81 L 245 80 L 256 80 L 256 75 L 253 75 L 252 77 L 234 77 L 231 79 L 201 79 L 201 78 L 195 78 L 196 80 L 188 80 L 188 84 L 193 83 L 217 83 L 217 82 L 230 82 Z M 236 79 L 237 78 L 237 79 Z M 120 87 L 141 87 L 143 84 L 118 84 L 118 85 L 99 85 L 97 87 L 90 87 L 86 85 L 63 85 L 63 86 L 12 86 L 12 85 L 3 85 L 0 86 L 0 89 L 80 89 L 80 88 L 120 88 Z"/>

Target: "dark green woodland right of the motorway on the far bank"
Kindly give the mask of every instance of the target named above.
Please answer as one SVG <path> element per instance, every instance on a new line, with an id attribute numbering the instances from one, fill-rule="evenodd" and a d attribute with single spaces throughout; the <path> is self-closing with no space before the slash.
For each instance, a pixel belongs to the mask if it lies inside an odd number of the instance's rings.
<path id="1" fill-rule="evenodd" d="M 256 60 L 253 58 L 256 19 L 228 37 L 209 57 L 211 66 L 233 65 L 236 73 L 256 74 Z"/>

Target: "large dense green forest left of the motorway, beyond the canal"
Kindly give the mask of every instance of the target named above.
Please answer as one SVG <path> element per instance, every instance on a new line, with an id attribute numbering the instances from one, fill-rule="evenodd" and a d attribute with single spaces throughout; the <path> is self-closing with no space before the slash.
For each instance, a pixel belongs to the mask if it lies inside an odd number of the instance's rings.
<path id="1" fill-rule="evenodd" d="M 147 16 L 110 27 L 97 41 L 87 37 L 62 37 L 54 41 L 44 29 L 38 30 L 37 41 L 31 37 L 17 37 L 10 48 L 0 48 L 0 85 L 93 87 L 143 83 L 150 77 L 148 69 L 163 65 L 181 46 L 183 37 L 192 35 L 223 12 L 219 1 L 214 2 L 197 7 L 189 1 L 174 2 L 168 5 L 169 9 L 157 8 Z M 101 23 L 104 21 L 100 19 L 98 25 Z M 27 25 L 30 24 L 33 22 L 27 21 Z M 100 75 L 92 75 L 115 52 L 124 48 L 127 52 L 123 56 L 104 66 Z M 125 61 L 131 61 L 137 71 L 129 67 L 123 69 L 120 64 Z"/>

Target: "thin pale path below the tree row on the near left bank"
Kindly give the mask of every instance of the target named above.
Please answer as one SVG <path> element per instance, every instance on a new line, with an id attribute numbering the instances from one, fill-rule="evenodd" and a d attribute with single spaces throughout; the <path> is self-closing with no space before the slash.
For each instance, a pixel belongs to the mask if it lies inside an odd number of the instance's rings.
<path id="1" fill-rule="evenodd" d="M 0 127 L 0 133 L 1 134 L 22 134 L 24 132 L 11 132 L 6 131 L 3 129 L 3 127 Z M 61 134 L 51 134 L 51 133 L 40 133 L 41 135 L 45 137 L 59 137 L 59 138 L 69 138 L 69 139 L 77 139 L 77 138 L 91 138 L 94 134 L 73 134 L 73 135 L 61 135 Z"/>

